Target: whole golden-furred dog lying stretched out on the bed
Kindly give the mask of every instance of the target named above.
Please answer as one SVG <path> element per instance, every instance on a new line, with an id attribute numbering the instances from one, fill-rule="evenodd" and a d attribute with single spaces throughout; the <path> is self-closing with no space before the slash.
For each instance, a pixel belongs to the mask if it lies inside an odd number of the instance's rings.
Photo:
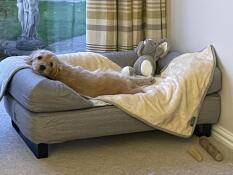
<path id="1" fill-rule="evenodd" d="M 58 80 L 81 95 L 136 94 L 143 92 L 142 86 L 151 85 L 152 77 L 130 77 L 116 71 L 89 71 L 80 66 L 71 66 L 58 60 L 47 50 L 34 51 L 28 63 L 34 72 Z"/>

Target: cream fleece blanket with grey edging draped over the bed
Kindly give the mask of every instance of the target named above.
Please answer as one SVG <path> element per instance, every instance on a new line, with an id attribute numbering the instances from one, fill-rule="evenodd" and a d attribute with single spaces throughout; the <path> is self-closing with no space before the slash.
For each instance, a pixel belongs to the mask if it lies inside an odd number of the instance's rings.
<path id="1" fill-rule="evenodd" d="M 79 61 L 76 58 L 67 63 L 80 64 L 90 70 L 120 70 L 115 63 L 100 55 Z M 189 137 L 193 133 L 200 106 L 212 81 L 215 64 L 215 53 L 211 46 L 201 52 L 183 54 L 175 58 L 160 76 L 155 77 L 155 84 L 145 87 L 146 93 L 105 95 L 94 100 L 113 104 L 154 128 Z"/>

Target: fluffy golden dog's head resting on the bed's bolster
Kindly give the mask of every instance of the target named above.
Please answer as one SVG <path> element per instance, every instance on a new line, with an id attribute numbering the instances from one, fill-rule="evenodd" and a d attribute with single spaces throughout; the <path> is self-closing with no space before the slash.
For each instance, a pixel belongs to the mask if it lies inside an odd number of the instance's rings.
<path id="1" fill-rule="evenodd" d="M 28 64 L 34 72 L 48 78 L 56 76 L 59 69 L 59 61 L 56 55 L 48 50 L 37 50 L 29 56 Z"/>

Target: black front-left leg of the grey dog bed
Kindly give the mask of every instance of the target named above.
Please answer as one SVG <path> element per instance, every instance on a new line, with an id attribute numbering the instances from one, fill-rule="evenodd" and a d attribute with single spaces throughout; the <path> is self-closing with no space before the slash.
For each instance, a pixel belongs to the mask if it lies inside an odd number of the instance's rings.
<path id="1" fill-rule="evenodd" d="M 26 138 L 21 131 L 19 130 L 18 126 L 15 124 L 13 120 L 11 120 L 12 126 L 15 128 L 17 133 L 20 135 L 20 137 L 23 139 L 23 141 L 26 143 L 26 145 L 30 148 L 30 150 L 33 152 L 33 154 L 36 156 L 36 158 L 47 158 L 48 157 L 48 144 L 40 143 L 35 144 L 32 141 L 30 141 L 28 138 Z"/>

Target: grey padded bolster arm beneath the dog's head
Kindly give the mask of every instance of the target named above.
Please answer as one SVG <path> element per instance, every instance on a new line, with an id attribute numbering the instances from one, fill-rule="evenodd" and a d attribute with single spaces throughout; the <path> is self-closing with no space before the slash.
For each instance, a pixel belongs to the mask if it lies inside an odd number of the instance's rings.
<path id="1" fill-rule="evenodd" d="M 54 112 L 92 107 L 93 104 L 59 81 L 37 75 L 31 69 L 18 71 L 8 92 L 33 112 Z"/>

